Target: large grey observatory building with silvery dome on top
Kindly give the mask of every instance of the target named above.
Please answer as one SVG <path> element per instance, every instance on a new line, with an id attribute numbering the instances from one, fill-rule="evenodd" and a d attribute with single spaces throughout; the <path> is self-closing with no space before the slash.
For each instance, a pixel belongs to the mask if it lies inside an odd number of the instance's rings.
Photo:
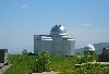
<path id="1" fill-rule="evenodd" d="M 51 28 L 50 35 L 34 35 L 34 53 L 47 50 L 52 55 L 74 55 L 75 40 L 62 25 Z"/>

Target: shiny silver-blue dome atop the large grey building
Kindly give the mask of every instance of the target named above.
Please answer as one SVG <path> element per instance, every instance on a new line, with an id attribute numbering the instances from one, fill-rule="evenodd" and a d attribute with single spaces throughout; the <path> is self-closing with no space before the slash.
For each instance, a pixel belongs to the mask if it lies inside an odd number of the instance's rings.
<path id="1" fill-rule="evenodd" d="M 65 28 L 62 25 L 56 25 L 51 28 L 50 34 L 65 34 Z"/>

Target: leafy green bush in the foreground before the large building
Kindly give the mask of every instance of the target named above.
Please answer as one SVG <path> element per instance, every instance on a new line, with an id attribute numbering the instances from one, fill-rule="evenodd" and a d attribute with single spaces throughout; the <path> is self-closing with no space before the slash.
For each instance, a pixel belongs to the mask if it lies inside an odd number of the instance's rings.
<path id="1" fill-rule="evenodd" d="M 38 54 L 38 59 L 36 60 L 33 72 L 41 73 L 41 72 L 49 72 L 51 71 L 50 60 L 47 51 L 41 51 Z"/>

